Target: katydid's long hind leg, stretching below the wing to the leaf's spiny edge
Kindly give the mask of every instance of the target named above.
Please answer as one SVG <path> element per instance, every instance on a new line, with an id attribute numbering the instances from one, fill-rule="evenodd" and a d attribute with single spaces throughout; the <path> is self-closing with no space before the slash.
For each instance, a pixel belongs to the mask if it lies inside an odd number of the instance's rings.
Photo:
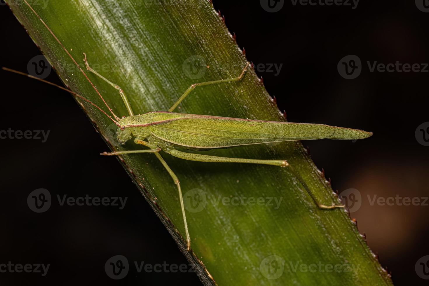
<path id="1" fill-rule="evenodd" d="M 322 205 L 320 204 L 314 194 L 311 192 L 310 188 L 307 186 L 305 181 L 301 178 L 301 176 L 296 172 L 296 170 L 290 166 L 290 164 L 286 160 L 260 160 L 260 159 L 241 159 L 241 158 L 230 158 L 230 157 L 218 157 L 218 156 L 210 156 L 210 155 L 203 155 L 203 154 L 195 154 L 195 153 L 186 153 L 182 151 L 178 151 L 176 149 L 173 149 L 168 152 L 174 157 L 178 157 L 184 160 L 190 160 L 190 161 L 198 161 L 198 162 L 211 162 L 211 163 L 250 163 L 250 164 L 263 164 L 263 165 L 272 165 L 272 166 L 279 166 L 283 168 L 287 168 L 297 179 L 298 181 L 304 186 L 305 190 L 308 192 L 308 194 L 311 196 L 311 199 L 316 203 L 316 205 L 325 210 L 331 210 L 334 208 L 344 208 L 344 205 Z"/>

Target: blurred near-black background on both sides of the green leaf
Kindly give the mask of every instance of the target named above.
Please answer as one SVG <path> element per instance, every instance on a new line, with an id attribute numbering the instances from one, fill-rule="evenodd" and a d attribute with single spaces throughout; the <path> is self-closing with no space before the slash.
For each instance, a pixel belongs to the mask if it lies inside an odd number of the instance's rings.
<path id="1" fill-rule="evenodd" d="M 266 12 L 259 1 L 215 0 L 214 5 L 236 33 L 239 46 L 245 47 L 248 60 L 283 64 L 277 76 L 258 73 L 289 121 L 374 132 L 372 138 L 355 143 L 303 144 L 326 178 L 332 178 L 334 190 L 360 191 L 362 207 L 351 217 L 392 272 L 395 285 L 427 284 L 414 265 L 429 255 L 429 206 L 370 205 L 367 195 L 428 196 L 429 147 L 420 145 L 414 132 L 429 121 L 429 73 L 369 72 L 366 61 L 429 63 L 429 13 L 411 0 L 362 0 L 356 9 L 285 1 L 275 13 Z M 7 6 L 0 6 L 0 13 L 0 65 L 26 72 L 28 61 L 40 51 Z M 353 80 L 337 71 L 338 61 L 349 54 L 363 64 Z M 62 265 L 46 277 L 0 273 L 0 284 L 201 285 L 193 273 L 132 273 L 119 281 L 106 276 L 103 265 L 115 254 L 151 264 L 187 261 L 120 164 L 98 155 L 108 148 L 73 98 L 46 84 L 0 72 L 0 129 L 46 129 L 49 121 L 51 130 L 45 143 L 0 140 L 0 263 Z M 46 79 L 61 84 L 54 72 Z M 17 101 L 15 94 L 26 94 L 25 102 Z M 98 176 L 112 180 L 93 180 Z M 28 208 L 27 196 L 38 188 L 54 190 L 53 196 L 111 197 L 119 192 L 128 200 L 123 210 L 53 204 L 36 214 Z"/>

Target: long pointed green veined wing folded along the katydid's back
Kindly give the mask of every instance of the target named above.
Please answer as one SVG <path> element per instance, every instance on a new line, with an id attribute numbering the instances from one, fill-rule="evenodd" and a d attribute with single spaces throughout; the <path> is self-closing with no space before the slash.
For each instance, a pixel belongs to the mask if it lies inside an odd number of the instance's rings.
<path id="1" fill-rule="evenodd" d="M 363 139 L 372 135 L 358 129 L 323 124 L 238 119 L 157 111 L 149 126 L 153 136 L 196 149 L 313 139 Z"/>

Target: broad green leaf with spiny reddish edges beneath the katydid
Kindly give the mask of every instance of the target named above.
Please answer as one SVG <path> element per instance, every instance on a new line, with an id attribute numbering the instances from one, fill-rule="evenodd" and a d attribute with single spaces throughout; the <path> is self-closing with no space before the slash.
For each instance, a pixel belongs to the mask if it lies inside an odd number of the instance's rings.
<path id="1" fill-rule="evenodd" d="M 64 84 L 107 111 L 29 6 L 7 2 Z M 94 69 L 124 89 L 136 114 L 167 110 L 190 84 L 235 77 L 247 61 L 206 0 L 30 4 L 81 67 L 85 52 Z M 127 115 L 117 90 L 87 74 L 115 113 Z M 120 145 L 112 121 L 87 102 L 78 102 L 112 150 L 141 148 L 132 141 Z M 178 112 L 184 113 L 284 120 L 253 69 L 240 82 L 198 87 L 180 107 Z M 338 203 L 299 142 L 205 154 L 287 159 L 320 202 Z M 214 282 L 205 270 L 219 285 L 392 285 L 349 215 L 340 209 L 317 209 L 286 169 L 163 157 L 181 181 L 192 254 L 186 252 L 181 237 L 184 226 L 177 190 L 160 162 L 153 154 L 123 156 L 121 162 L 206 285 Z M 193 201 L 191 206 L 190 197 L 199 198 L 199 205 Z"/>

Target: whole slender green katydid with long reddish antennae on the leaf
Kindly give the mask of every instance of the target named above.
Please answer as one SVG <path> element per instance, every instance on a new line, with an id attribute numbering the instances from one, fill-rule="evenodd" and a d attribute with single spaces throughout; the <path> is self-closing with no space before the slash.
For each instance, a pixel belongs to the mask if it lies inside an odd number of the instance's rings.
<path id="1" fill-rule="evenodd" d="M 37 13 L 27 3 L 34 14 Z M 67 51 L 59 39 L 54 35 L 51 29 L 45 24 L 45 22 L 37 15 L 43 25 L 49 30 L 52 36 L 60 44 L 60 46 L 66 51 L 69 57 L 73 60 L 79 70 L 85 75 L 87 80 L 91 83 L 94 89 L 97 91 L 100 98 L 103 100 L 107 108 L 109 109 L 112 116 L 110 116 L 102 108 L 95 105 L 85 97 L 74 93 L 64 87 L 60 87 L 75 96 L 89 102 L 94 105 L 107 117 L 109 117 L 117 126 L 117 138 L 121 144 L 125 144 L 128 140 L 134 138 L 134 143 L 148 147 L 148 149 L 134 150 L 134 151 L 116 151 L 116 152 L 104 152 L 102 155 L 123 155 L 123 154 L 134 154 L 134 153 L 154 153 L 155 156 L 160 160 L 164 168 L 167 170 L 169 175 L 177 186 L 179 201 L 181 205 L 181 212 L 184 222 L 184 230 L 186 235 L 187 250 L 190 250 L 190 235 L 188 232 L 186 214 L 183 203 L 183 196 L 181 193 L 181 185 L 178 177 L 170 169 L 167 163 L 160 155 L 160 151 L 166 154 L 170 154 L 174 157 L 178 157 L 184 160 L 192 160 L 199 162 L 208 163 L 251 163 L 251 164 L 263 164 L 272 165 L 287 168 L 303 185 L 305 190 L 311 196 L 314 203 L 320 209 L 331 210 L 335 208 L 344 208 L 343 205 L 322 205 L 318 202 L 317 198 L 311 192 L 305 181 L 301 178 L 298 172 L 295 171 L 287 160 L 266 160 L 266 159 L 245 159 L 245 158 L 230 158 L 230 157 L 217 157 L 209 156 L 198 153 L 187 153 L 183 151 L 194 150 L 194 151 L 206 151 L 216 148 L 231 148 L 243 145 L 254 145 L 273 143 L 281 141 L 295 141 L 295 140 L 312 140 L 312 139 L 363 139 L 372 135 L 371 132 L 366 132 L 358 129 L 334 127 L 323 124 L 311 124 L 311 123 L 291 123 L 291 122 L 276 122 L 276 121 L 263 121 L 263 120 L 251 120 L 251 119 L 240 119 L 231 117 L 218 117 L 209 115 L 197 115 L 197 114 L 182 114 L 173 112 L 178 105 L 196 88 L 209 84 L 220 84 L 225 82 L 240 81 L 244 76 L 248 68 L 249 63 L 244 67 L 242 73 L 236 78 L 221 79 L 215 81 L 205 81 L 190 85 L 190 87 L 183 93 L 182 96 L 169 108 L 168 111 L 153 111 L 145 114 L 134 115 L 131 108 L 130 101 L 128 100 L 124 90 L 118 85 L 104 78 L 94 69 L 91 68 L 88 63 L 87 56 L 84 53 L 84 63 L 88 71 L 94 73 L 104 81 L 112 85 L 116 90 L 119 91 L 124 105 L 127 108 L 129 116 L 119 118 L 115 115 L 112 109 L 109 107 L 107 102 L 103 99 L 103 96 L 99 93 L 97 88 L 91 82 L 86 75 L 85 71 L 79 66 L 74 60 L 73 56 Z M 16 72 L 11 69 L 6 69 L 12 72 Z M 23 74 L 21 72 L 16 72 Z M 39 79 L 28 75 L 31 78 Z M 40 80 L 40 79 L 39 79 Z"/>

